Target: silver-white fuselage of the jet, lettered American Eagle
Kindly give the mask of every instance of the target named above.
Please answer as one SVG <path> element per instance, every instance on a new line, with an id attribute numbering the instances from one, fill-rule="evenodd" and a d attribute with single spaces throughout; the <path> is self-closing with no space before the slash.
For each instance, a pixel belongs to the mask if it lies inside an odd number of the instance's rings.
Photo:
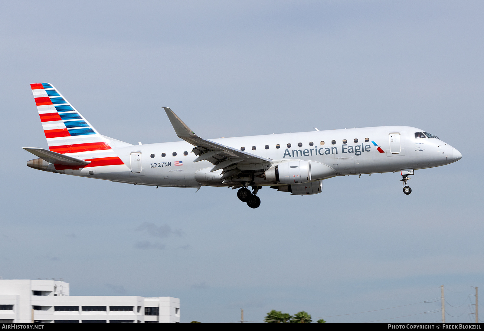
<path id="1" fill-rule="evenodd" d="M 417 137 L 417 133 L 421 137 Z M 449 144 L 423 133 L 421 129 L 408 126 L 380 126 L 210 140 L 271 159 L 274 164 L 307 160 L 333 169 L 324 178 L 313 178 L 314 181 L 351 174 L 430 168 L 453 163 L 462 157 Z M 191 152 L 192 148 L 185 141 L 126 147 L 113 145 L 113 151 L 124 165 L 58 172 L 153 186 L 230 186 L 222 183 L 222 170 L 210 171 L 213 168 L 210 162 L 194 163 L 197 155 Z M 83 158 L 83 152 L 74 156 Z M 263 177 L 255 178 L 254 183 L 276 184 Z"/>

